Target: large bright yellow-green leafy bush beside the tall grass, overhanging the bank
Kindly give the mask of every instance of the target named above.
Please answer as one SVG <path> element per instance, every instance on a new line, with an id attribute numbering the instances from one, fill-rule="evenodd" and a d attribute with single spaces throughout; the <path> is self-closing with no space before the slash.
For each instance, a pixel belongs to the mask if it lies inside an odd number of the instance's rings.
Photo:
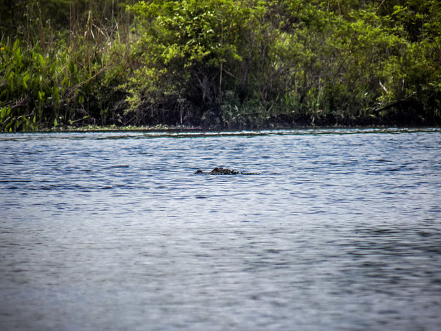
<path id="1" fill-rule="evenodd" d="M 140 38 L 127 85 L 139 116 L 222 124 L 222 97 L 246 99 L 263 43 L 261 1 L 141 1 L 132 6 Z"/>

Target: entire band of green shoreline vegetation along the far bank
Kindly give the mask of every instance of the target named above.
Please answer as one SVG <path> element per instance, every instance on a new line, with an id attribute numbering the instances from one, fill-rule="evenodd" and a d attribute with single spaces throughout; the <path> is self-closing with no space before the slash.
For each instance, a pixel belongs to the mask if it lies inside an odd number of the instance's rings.
<path id="1" fill-rule="evenodd" d="M 0 0 L 1 132 L 440 125 L 438 0 Z"/>

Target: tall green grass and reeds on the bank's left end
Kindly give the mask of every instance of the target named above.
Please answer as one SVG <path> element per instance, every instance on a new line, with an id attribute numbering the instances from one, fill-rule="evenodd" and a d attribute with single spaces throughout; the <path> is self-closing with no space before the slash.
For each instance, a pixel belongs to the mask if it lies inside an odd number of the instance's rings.
<path id="1" fill-rule="evenodd" d="M 2 131 L 105 123 L 109 110 L 118 113 L 124 94 L 114 86 L 127 72 L 130 18 L 116 12 L 109 21 L 95 16 L 93 1 L 83 12 L 72 3 L 69 30 L 57 32 L 50 20 L 43 22 L 37 2 L 24 33 L 1 36 Z"/>

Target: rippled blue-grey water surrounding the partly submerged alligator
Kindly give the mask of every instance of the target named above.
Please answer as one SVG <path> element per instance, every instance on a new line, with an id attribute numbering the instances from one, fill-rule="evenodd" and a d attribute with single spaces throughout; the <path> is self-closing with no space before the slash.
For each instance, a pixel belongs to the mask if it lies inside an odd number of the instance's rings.
<path id="1" fill-rule="evenodd" d="M 0 134 L 0 330 L 440 330 L 441 130 Z M 214 166 L 255 176 L 195 175 Z"/>

